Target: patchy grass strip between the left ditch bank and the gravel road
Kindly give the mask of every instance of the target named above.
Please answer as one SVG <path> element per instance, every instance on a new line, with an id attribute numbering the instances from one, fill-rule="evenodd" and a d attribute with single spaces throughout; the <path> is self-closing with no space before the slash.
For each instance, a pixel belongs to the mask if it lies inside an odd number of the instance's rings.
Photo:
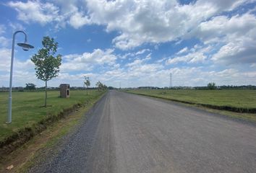
<path id="1" fill-rule="evenodd" d="M 4 161 L 0 162 L 0 172 L 6 172 L 6 167 L 14 165 L 9 172 L 27 172 L 30 167 L 38 162 L 47 159 L 48 153 L 58 153 L 56 146 L 61 145 L 60 139 L 67 134 L 72 134 L 77 129 L 77 125 L 84 122 L 86 112 L 97 102 L 102 95 L 90 99 L 88 105 L 80 107 L 71 115 L 51 124 L 46 130 L 35 136 L 25 145 L 17 148 L 9 154 Z"/>

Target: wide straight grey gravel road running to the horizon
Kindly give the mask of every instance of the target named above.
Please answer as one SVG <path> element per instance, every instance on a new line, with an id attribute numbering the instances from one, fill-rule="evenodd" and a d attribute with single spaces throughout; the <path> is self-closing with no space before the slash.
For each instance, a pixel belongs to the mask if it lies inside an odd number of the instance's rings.
<path id="1" fill-rule="evenodd" d="M 110 91 L 30 172 L 256 172 L 256 125 Z"/>

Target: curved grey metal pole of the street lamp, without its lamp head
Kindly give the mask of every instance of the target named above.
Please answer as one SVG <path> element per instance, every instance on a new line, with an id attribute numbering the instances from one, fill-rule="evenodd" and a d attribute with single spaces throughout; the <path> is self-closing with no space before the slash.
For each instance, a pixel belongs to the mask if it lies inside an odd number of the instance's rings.
<path id="1" fill-rule="evenodd" d="M 27 42 L 27 35 L 23 31 L 16 31 L 12 36 L 12 58 L 11 58 L 11 70 L 10 70 L 10 81 L 9 81 L 9 107 L 8 107 L 8 117 L 7 124 L 12 123 L 12 70 L 13 70 L 13 59 L 14 59 L 14 44 L 15 44 L 15 35 L 18 32 L 22 32 L 25 35 L 25 42 Z"/>

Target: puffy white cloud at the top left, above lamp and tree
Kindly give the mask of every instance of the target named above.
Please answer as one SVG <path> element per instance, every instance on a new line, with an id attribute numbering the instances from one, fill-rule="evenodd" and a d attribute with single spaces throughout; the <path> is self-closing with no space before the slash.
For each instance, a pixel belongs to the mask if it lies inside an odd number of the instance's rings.
<path id="1" fill-rule="evenodd" d="M 23 22 L 38 22 L 40 25 L 54 22 L 57 30 L 65 27 L 67 23 L 75 29 L 90 24 L 90 19 L 83 11 L 79 11 L 79 5 L 75 0 L 52 1 L 52 3 L 43 3 L 39 0 L 10 1 L 8 6 L 18 12 L 17 18 Z"/>

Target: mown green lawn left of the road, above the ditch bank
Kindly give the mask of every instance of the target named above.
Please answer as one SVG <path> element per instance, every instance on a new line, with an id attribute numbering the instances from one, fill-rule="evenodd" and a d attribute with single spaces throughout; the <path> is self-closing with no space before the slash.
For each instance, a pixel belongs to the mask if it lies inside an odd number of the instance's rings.
<path id="1" fill-rule="evenodd" d="M 0 141 L 11 136 L 18 130 L 30 127 L 51 115 L 58 115 L 64 109 L 72 108 L 76 104 L 93 102 L 103 94 L 97 90 L 71 91 L 70 97 L 59 98 L 59 92 L 48 92 L 48 105 L 44 104 L 44 92 L 13 92 L 12 93 L 12 123 L 6 124 L 8 93 L 0 93 Z"/>

